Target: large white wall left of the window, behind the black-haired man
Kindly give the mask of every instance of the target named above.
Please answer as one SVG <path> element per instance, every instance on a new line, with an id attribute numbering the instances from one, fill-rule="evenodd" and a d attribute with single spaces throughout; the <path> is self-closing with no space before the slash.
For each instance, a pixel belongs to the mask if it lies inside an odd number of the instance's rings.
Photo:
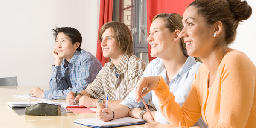
<path id="1" fill-rule="evenodd" d="M 96 56 L 100 0 L 1 0 L 0 77 L 18 85 L 49 85 L 55 41 L 52 29 L 70 26 L 81 48 Z"/>

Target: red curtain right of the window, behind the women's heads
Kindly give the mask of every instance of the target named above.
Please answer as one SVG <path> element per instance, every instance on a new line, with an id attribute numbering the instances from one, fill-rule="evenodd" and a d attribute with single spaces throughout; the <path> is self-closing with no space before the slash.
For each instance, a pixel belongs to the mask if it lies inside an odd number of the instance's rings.
<path id="1" fill-rule="evenodd" d="M 148 35 L 152 20 L 159 13 L 177 13 L 183 15 L 186 7 L 194 0 L 147 0 L 147 28 Z M 151 46 L 148 44 L 149 62 L 154 58 L 150 55 Z"/>

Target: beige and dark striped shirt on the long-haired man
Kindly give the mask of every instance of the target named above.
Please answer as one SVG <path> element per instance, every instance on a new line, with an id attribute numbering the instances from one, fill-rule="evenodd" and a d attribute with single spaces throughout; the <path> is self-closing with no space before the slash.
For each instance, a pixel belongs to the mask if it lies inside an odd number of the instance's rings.
<path id="1" fill-rule="evenodd" d="M 112 61 L 106 63 L 95 80 L 85 89 L 91 98 L 106 99 L 108 94 L 109 100 L 125 99 L 136 86 L 146 63 L 135 55 L 124 54 L 116 70 L 114 67 Z"/>

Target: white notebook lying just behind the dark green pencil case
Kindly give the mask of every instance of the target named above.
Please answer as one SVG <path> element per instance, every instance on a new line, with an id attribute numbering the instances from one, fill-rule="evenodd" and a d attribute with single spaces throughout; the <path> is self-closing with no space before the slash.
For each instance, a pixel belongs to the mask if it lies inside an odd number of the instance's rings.
<path id="1" fill-rule="evenodd" d="M 47 103 L 47 104 L 55 104 L 55 105 L 59 105 L 58 102 L 53 102 L 50 100 L 46 100 L 46 101 L 32 101 L 32 102 L 7 102 L 7 105 L 9 105 L 11 108 L 16 108 L 16 107 L 27 107 L 27 106 L 33 106 L 35 104 L 38 103 Z"/>

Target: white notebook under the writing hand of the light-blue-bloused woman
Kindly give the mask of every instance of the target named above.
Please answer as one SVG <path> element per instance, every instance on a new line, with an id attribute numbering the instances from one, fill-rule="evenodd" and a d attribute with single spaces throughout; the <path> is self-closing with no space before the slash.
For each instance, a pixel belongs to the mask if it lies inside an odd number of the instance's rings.
<path id="1" fill-rule="evenodd" d="M 85 125 L 85 126 L 94 127 L 94 128 L 111 128 L 111 127 L 139 125 L 139 124 L 146 123 L 144 120 L 132 118 L 130 116 L 119 118 L 119 119 L 113 119 L 108 122 L 104 122 L 97 118 L 76 119 L 74 122 L 80 125 Z"/>

